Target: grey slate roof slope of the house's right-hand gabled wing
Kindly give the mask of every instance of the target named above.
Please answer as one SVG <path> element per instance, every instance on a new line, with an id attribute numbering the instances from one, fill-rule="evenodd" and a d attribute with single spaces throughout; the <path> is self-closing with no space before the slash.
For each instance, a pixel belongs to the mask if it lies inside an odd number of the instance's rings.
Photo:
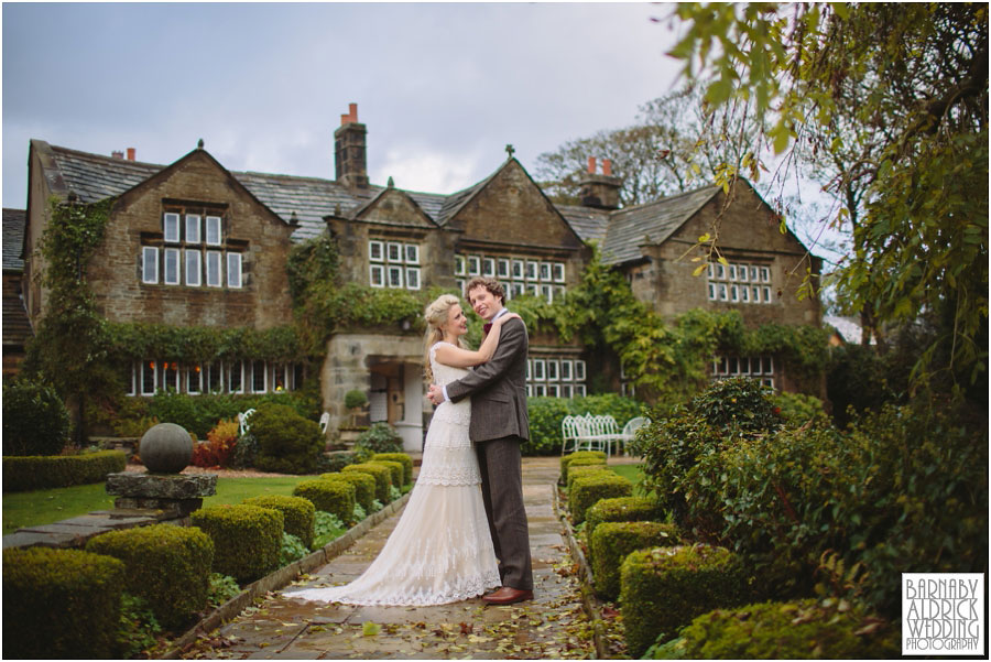
<path id="1" fill-rule="evenodd" d="M 663 243 L 718 191 L 718 186 L 706 186 L 656 203 L 612 211 L 602 245 L 602 262 L 622 264 L 639 260 L 639 247 L 647 237 L 651 243 Z"/>

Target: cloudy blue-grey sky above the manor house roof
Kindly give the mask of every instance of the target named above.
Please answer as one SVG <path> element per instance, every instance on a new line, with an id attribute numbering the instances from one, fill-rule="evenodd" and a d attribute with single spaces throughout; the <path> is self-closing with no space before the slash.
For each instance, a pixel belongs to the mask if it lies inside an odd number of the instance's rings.
<path id="1" fill-rule="evenodd" d="M 454 193 L 515 156 L 632 123 L 679 65 L 669 4 L 10 3 L 4 207 L 32 138 L 168 164 L 334 178 L 348 104 L 373 184 Z M 652 20 L 654 19 L 654 20 Z M 660 21 L 658 21 L 660 20 Z M 595 154 L 589 154 L 595 155 Z"/>

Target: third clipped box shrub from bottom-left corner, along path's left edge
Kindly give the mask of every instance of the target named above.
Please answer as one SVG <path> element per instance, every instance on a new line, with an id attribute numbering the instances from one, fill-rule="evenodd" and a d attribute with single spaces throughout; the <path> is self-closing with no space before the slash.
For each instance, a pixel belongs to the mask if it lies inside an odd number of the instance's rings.
<path id="1" fill-rule="evenodd" d="M 214 541 L 215 573 L 238 582 L 253 582 L 279 567 L 282 512 L 258 506 L 222 504 L 202 508 L 192 516 Z"/>

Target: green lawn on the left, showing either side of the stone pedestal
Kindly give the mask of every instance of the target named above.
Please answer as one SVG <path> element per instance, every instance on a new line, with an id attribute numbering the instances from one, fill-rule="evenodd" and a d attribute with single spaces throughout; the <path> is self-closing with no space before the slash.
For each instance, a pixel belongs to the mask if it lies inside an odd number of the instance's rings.
<path id="1" fill-rule="evenodd" d="M 249 497 L 291 495 L 296 484 L 313 476 L 280 476 L 275 478 L 218 478 L 217 493 L 206 497 L 204 506 L 240 503 Z M 116 497 L 108 495 L 104 482 L 77 485 L 57 489 L 3 495 L 3 534 L 22 527 L 51 524 L 94 510 L 113 508 Z"/>

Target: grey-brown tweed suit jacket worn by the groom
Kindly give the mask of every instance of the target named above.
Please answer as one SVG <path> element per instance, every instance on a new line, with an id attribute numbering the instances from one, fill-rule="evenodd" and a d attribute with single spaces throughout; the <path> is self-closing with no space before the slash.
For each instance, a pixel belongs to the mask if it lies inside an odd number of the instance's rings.
<path id="1" fill-rule="evenodd" d="M 472 442 L 515 435 L 530 438 L 526 413 L 526 351 L 530 340 L 522 319 L 502 325 L 496 354 L 461 379 L 447 384 L 453 402 L 471 395 Z"/>

